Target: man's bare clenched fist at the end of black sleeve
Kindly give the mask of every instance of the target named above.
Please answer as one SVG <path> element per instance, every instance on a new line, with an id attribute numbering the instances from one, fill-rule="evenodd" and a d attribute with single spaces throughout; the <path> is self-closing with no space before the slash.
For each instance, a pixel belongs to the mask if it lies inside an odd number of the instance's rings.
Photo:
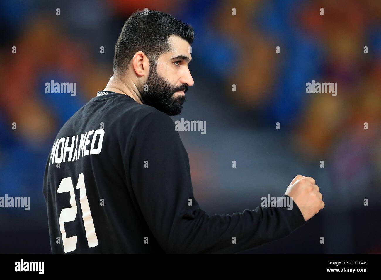
<path id="1" fill-rule="evenodd" d="M 323 196 L 311 177 L 297 175 L 287 187 L 285 194 L 292 197 L 305 221 L 324 208 Z"/>

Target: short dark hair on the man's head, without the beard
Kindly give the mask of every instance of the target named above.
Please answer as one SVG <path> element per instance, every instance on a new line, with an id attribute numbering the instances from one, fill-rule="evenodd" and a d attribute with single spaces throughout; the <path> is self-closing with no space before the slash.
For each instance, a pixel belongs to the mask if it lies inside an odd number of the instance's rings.
<path id="1" fill-rule="evenodd" d="M 150 63 L 156 65 L 159 56 L 170 51 L 169 35 L 177 35 L 191 45 L 194 30 L 191 25 L 161 11 L 138 10 L 133 13 L 124 24 L 115 45 L 114 74 L 125 72 L 137 51 L 144 52 Z"/>

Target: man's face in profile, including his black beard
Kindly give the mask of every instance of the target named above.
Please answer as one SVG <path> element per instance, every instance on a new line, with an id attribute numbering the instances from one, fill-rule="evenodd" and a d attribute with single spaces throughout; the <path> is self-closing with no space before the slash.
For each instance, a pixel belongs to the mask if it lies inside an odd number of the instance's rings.
<path id="1" fill-rule="evenodd" d="M 189 43 L 173 35 L 168 43 L 172 46 L 171 51 L 162 54 L 156 66 L 150 61 L 147 86 L 143 86 L 139 92 L 144 104 L 173 116 L 180 114 L 188 86 L 194 82 L 188 69 L 192 59 L 188 53 Z"/>

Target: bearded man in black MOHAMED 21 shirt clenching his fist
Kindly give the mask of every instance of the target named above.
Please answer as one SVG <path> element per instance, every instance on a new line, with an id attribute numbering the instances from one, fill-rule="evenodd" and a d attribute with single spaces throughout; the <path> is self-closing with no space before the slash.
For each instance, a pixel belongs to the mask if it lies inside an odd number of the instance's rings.
<path id="1" fill-rule="evenodd" d="M 181 111 L 191 26 L 138 11 L 115 46 L 114 75 L 61 128 L 44 176 L 52 253 L 237 253 L 289 235 L 324 207 L 296 176 L 293 208 L 209 216 L 193 196 Z M 296 205 L 295 205 L 296 204 Z"/>

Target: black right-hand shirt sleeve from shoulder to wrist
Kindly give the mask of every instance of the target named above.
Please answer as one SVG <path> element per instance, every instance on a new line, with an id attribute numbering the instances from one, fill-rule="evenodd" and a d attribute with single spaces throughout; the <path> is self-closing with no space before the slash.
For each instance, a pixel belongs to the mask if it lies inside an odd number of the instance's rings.
<path id="1" fill-rule="evenodd" d="M 149 113 L 135 127 L 129 157 L 133 192 L 166 253 L 238 253 L 285 237 L 305 223 L 295 202 L 292 210 L 258 206 L 209 216 L 194 198 L 179 133 L 162 112 Z"/>

